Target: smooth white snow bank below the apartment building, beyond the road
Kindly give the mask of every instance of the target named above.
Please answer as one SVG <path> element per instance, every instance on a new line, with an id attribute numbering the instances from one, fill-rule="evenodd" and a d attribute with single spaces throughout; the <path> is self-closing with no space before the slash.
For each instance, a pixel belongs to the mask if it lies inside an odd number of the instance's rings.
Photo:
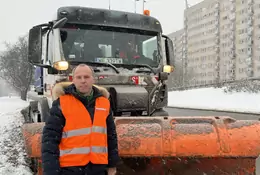
<path id="1" fill-rule="evenodd" d="M 260 113 L 260 93 L 225 93 L 224 88 L 169 92 L 168 106 Z"/>

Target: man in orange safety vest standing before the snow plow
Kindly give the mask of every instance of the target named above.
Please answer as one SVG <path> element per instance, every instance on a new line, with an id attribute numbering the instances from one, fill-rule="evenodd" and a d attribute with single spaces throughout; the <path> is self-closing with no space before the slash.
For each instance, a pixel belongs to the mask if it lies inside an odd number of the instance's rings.
<path id="1" fill-rule="evenodd" d="M 53 88 L 42 136 L 44 175 L 115 175 L 117 134 L 105 88 L 94 86 L 87 65 L 73 70 L 73 83 Z"/>

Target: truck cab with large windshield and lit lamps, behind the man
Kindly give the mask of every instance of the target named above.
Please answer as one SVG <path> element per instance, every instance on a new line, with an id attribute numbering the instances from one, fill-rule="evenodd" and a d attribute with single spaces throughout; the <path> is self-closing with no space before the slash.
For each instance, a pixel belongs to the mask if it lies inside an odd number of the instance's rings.
<path id="1" fill-rule="evenodd" d="M 147 11 L 146 11 L 147 12 Z M 45 121 L 52 88 L 72 80 L 72 70 L 92 67 L 97 85 L 110 92 L 114 115 L 167 115 L 167 79 L 173 72 L 173 44 L 149 15 L 67 6 L 55 19 L 29 32 L 28 60 L 37 67 L 39 100 L 34 122 Z"/>

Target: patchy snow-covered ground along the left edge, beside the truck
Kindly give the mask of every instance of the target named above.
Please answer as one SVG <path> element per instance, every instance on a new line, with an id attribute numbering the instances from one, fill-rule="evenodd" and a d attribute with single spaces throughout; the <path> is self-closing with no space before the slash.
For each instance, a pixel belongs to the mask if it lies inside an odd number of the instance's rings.
<path id="1" fill-rule="evenodd" d="M 24 120 L 20 111 L 26 106 L 28 102 L 19 97 L 0 98 L 0 174 L 32 175 L 21 133 Z"/>

